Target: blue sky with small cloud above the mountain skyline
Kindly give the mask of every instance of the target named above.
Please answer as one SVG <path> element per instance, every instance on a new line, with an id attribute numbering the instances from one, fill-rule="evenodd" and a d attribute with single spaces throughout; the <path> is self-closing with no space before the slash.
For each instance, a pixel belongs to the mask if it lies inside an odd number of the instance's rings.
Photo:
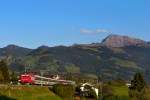
<path id="1" fill-rule="evenodd" d="M 0 47 L 101 42 L 109 34 L 150 41 L 150 0 L 0 0 Z"/>

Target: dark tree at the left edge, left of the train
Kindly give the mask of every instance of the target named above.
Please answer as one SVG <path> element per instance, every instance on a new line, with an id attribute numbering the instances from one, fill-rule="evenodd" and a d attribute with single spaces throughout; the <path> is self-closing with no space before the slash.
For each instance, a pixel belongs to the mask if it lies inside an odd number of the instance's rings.
<path id="1" fill-rule="evenodd" d="M 1 73 L 1 77 L 3 77 L 2 81 L 9 82 L 10 80 L 9 71 L 8 71 L 7 64 L 4 60 L 0 61 L 0 73 Z"/>

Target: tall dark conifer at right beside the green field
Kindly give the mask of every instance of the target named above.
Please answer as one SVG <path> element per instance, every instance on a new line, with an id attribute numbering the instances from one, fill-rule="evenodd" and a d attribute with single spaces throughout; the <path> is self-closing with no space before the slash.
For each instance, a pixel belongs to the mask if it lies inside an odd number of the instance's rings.
<path id="1" fill-rule="evenodd" d="M 129 96 L 136 100 L 145 100 L 145 87 L 146 83 L 143 75 L 141 73 L 136 73 L 129 87 Z"/>

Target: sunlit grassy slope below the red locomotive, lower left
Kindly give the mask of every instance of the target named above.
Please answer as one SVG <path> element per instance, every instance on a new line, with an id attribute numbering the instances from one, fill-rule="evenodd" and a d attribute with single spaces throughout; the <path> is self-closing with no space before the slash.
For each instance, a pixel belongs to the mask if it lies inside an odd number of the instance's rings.
<path id="1" fill-rule="evenodd" d="M 62 100 L 47 87 L 0 86 L 0 100 Z"/>

